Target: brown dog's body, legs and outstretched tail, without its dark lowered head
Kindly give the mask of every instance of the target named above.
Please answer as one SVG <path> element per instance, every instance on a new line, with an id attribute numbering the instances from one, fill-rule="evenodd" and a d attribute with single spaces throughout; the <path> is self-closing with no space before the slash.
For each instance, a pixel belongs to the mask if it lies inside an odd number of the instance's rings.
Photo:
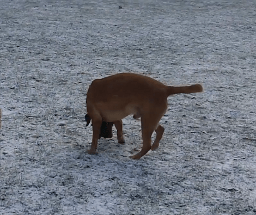
<path id="1" fill-rule="evenodd" d="M 118 143 L 124 143 L 123 122 L 125 116 L 134 114 L 141 117 L 143 147 L 136 155 L 139 159 L 150 149 L 159 147 L 164 128 L 159 121 L 167 109 L 167 97 L 173 94 L 190 94 L 203 91 L 200 84 L 186 87 L 168 87 L 153 78 L 134 73 L 119 73 L 102 79 L 95 79 L 87 93 L 87 125 L 92 119 L 93 142 L 90 154 L 96 153 L 97 140 L 101 132 L 102 121 L 113 122 L 117 128 Z M 156 139 L 151 145 L 151 135 Z"/>

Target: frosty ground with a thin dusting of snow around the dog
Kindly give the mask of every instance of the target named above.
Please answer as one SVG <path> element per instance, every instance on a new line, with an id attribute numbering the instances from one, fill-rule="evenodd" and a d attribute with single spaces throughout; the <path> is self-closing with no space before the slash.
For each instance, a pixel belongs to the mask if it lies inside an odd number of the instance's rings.
<path id="1" fill-rule="evenodd" d="M 254 0 L 0 0 L 0 24 L 0 214 L 256 213 Z M 205 86 L 139 161 L 132 117 L 86 153 L 89 84 L 123 71 Z"/>

